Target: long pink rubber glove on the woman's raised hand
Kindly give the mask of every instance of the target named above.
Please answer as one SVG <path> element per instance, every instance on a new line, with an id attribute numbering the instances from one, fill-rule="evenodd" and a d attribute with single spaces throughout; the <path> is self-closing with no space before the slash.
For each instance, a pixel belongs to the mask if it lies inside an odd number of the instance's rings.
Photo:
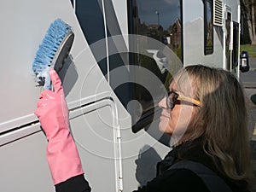
<path id="1" fill-rule="evenodd" d="M 54 91 L 44 90 L 34 112 L 49 141 L 47 160 L 54 184 L 84 174 L 73 137 L 69 131 L 68 108 L 61 79 L 54 69 L 49 70 Z"/>

